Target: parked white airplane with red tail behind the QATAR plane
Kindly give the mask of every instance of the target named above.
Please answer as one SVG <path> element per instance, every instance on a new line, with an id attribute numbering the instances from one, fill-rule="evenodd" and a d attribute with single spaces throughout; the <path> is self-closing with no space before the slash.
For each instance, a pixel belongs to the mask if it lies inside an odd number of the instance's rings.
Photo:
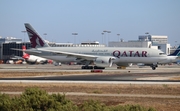
<path id="1" fill-rule="evenodd" d="M 22 46 L 22 50 L 23 50 L 22 58 L 24 58 L 25 61 L 28 64 L 47 64 L 47 63 L 52 63 L 52 60 L 48 60 L 46 58 L 38 57 L 38 56 L 35 56 L 35 55 L 29 55 L 29 54 L 25 53 L 25 51 L 26 51 L 26 46 L 25 45 Z"/>

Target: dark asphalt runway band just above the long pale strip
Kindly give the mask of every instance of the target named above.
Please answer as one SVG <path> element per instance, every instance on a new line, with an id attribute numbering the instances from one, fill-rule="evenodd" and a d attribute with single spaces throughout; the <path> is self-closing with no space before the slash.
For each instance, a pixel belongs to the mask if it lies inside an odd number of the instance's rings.
<path id="1" fill-rule="evenodd" d="M 0 80 L 50 80 L 50 81 L 156 81 L 156 82 L 180 82 L 169 78 L 179 76 L 179 73 L 132 73 L 132 74 L 77 74 L 59 76 L 36 76 L 0 78 Z M 151 78 L 151 79 L 150 79 Z"/>

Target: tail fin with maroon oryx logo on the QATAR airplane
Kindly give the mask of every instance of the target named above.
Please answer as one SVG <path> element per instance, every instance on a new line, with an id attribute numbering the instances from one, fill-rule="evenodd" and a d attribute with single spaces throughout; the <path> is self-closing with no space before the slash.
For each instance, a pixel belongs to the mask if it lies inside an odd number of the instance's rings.
<path id="1" fill-rule="evenodd" d="M 32 48 L 47 47 L 45 41 L 38 35 L 38 33 L 31 27 L 30 24 L 25 23 L 26 31 L 29 36 Z"/>

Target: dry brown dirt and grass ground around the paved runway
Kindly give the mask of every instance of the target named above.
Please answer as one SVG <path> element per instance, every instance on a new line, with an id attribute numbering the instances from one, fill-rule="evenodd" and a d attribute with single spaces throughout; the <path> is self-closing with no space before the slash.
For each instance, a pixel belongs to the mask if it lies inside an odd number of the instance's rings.
<path id="1" fill-rule="evenodd" d="M 65 73 L 62 73 L 65 74 Z M 26 76 L 57 75 L 57 73 L 23 73 Z M 0 77 L 22 77 L 19 72 L 0 72 Z M 86 100 L 99 100 L 107 105 L 140 104 L 154 107 L 158 111 L 180 111 L 180 98 L 166 98 L 166 96 L 180 96 L 179 85 L 148 85 L 148 84 L 70 84 L 70 83 L 1 83 L 0 92 L 22 92 L 27 87 L 39 87 L 47 92 L 84 92 L 88 94 L 131 94 L 156 95 L 156 97 L 124 97 L 124 96 L 91 96 L 67 95 L 67 98 L 80 104 Z M 158 97 L 164 95 L 164 98 Z"/>

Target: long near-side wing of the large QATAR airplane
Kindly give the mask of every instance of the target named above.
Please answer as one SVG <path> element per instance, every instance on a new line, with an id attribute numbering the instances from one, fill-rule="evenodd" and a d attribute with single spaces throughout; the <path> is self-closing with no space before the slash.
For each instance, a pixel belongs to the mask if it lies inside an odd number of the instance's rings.
<path id="1" fill-rule="evenodd" d="M 52 50 L 47 50 L 47 49 L 40 49 L 41 51 L 47 51 L 51 52 L 54 54 L 63 54 L 67 55 L 67 57 L 76 57 L 77 59 L 86 59 L 86 60 L 94 60 L 100 56 L 95 56 L 95 55 L 88 55 L 88 54 L 79 54 L 79 53 L 72 53 L 72 52 L 63 52 L 63 51 L 52 51 Z M 112 59 L 115 59 L 115 57 L 111 57 Z"/>

